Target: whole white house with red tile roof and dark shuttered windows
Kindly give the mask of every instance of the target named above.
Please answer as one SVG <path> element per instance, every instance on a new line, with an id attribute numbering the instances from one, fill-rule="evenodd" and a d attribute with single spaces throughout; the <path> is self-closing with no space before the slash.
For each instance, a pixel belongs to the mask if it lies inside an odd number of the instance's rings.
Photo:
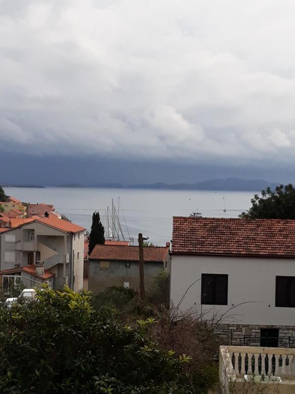
<path id="1" fill-rule="evenodd" d="M 295 221 L 174 217 L 171 300 L 182 298 L 235 333 L 295 339 Z"/>

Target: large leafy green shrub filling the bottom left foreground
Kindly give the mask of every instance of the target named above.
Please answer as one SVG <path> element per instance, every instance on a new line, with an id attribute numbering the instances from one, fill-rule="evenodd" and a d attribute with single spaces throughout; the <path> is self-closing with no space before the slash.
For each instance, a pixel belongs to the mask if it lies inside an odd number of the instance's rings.
<path id="1" fill-rule="evenodd" d="M 37 290 L 37 301 L 0 308 L 2 394 L 188 394 L 191 362 L 149 339 L 153 319 L 136 327 L 96 311 L 89 293 Z"/>

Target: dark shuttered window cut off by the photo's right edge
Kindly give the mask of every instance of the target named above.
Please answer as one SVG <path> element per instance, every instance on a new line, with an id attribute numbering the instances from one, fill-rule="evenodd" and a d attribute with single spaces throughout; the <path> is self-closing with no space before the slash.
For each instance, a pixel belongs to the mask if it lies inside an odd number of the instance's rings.
<path id="1" fill-rule="evenodd" d="M 295 308 L 295 277 L 276 277 L 276 306 Z"/>

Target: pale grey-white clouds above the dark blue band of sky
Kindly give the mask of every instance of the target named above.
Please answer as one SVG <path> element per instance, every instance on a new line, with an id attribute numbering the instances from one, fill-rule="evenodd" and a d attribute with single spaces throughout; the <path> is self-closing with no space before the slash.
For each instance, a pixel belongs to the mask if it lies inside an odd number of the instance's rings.
<path id="1" fill-rule="evenodd" d="M 2 157 L 290 169 L 294 20 L 292 0 L 0 0 Z"/>

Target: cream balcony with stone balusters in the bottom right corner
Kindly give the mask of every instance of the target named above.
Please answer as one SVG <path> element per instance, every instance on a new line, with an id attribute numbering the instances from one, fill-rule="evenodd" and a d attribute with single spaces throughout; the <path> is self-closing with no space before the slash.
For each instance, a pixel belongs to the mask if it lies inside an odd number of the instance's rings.
<path id="1" fill-rule="evenodd" d="M 223 394 L 295 392 L 295 349 L 220 346 L 219 382 Z"/>

